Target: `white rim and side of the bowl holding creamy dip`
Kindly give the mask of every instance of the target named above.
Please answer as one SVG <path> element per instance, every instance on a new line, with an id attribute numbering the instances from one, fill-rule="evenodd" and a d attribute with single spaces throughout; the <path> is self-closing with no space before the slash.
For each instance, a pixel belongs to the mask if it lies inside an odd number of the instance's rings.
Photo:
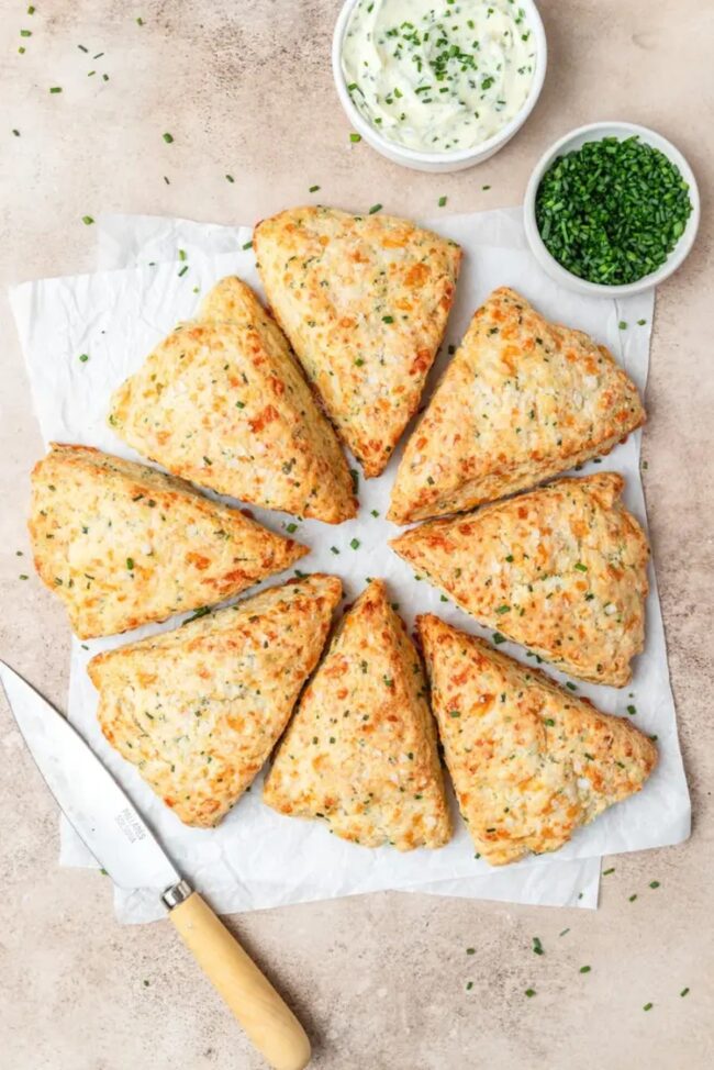
<path id="1" fill-rule="evenodd" d="M 368 142 L 372 148 L 376 148 L 378 153 L 386 156 L 387 159 L 391 159 L 394 164 L 401 164 L 402 167 L 411 167 L 413 170 L 417 171 L 432 171 L 440 174 L 445 171 L 462 171 L 466 170 L 467 167 L 473 167 L 475 164 L 482 164 L 484 159 L 493 156 L 493 154 L 498 153 L 500 148 L 503 148 L 506 142 L 510 142 L 513 135 L 521 129 L 521 126 L 523 126 L 524 122 L 535 108 L 538 97 L 540 96 L 543 82 L 546 77 L 546 67 L 548 65 L 548 46 L 546 44 L 546 34 L 534 0 L 520 0 L 518 3 L 518 7 L 523 8 L 525 12 L 526 25 L 533 32 L 536 42 L 536 65 L 533 73 L 533 82 L 531 85 L 531 92 L 527 100 L 523 104 L 521 111 L 514 115 L 511 122 L 506 123 L 506 125 L 503 126 L 498 134 L 494 134 L 493 137 L 489 137 L 488 141 L 481 142 L 480 145 L 475 145 L 473 148 L 462 148 L 457 153 L 419 153 L 416 149 L 406 148 L 404 145 L 398 145 L 395 142 L 389 141 L 387 137 L 380 134 L 375 126 L 371 125 L 371 123 L 367 122 L 360 111 L 353 103 L 352 97 L 347 91 L 347 85 L 345 82 L 345 76 L 342 69 L 342 43 L 347 29 L 347 23 L 349 22 L 349 16 L 353 12 L 353 8 L 357 2 L 358 0 L 345 0 L 342 11 L 337 18 L 335 32 L 332 38 L 332 73 L 335 79 L 335 86 L 337 88 L 337 96 L 339 97 L 339 102 L 345 110 L 347 119 L 355 127 L 357 133 L 361 134 L 364 140 Z"/>

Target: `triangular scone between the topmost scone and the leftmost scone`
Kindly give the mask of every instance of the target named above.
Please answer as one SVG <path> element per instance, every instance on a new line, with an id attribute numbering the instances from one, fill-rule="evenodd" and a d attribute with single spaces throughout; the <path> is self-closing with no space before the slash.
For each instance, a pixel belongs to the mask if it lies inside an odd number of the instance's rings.
<path id="1" fill-rule="evenodd" d="M 225 278 L 113 394 L 116 434 L 169 471 L 254 505 L 338 524 L 353 480 L 280 328 Z"/>

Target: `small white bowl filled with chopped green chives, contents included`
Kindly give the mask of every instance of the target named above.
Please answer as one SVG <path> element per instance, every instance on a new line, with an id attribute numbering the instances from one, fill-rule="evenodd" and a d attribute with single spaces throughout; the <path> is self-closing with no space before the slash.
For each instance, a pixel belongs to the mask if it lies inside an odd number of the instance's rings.
<path id="1" fill-rule="evenodd" d="M 570 290 L 626 297 L 658 286 L 696 236 L 700 199 L 692 169 L 646 126 L 580 126 L 538 160 L 523 222 L 540 267 Z"/>

